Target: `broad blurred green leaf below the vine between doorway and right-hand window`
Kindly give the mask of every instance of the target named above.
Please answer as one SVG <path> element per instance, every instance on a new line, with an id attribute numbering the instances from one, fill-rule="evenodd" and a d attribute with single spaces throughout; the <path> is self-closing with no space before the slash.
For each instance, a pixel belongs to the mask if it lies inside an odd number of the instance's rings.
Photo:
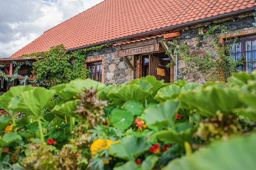
<path id="1" fill-rule="evenodd" d="M 237 88 L 209 86 L 185 92 L 180 100 L 203 116 L 215 116 L 217 111 L 230 113 L 233 108 L 241 107 L 240 93 L 241 90 Z"/>

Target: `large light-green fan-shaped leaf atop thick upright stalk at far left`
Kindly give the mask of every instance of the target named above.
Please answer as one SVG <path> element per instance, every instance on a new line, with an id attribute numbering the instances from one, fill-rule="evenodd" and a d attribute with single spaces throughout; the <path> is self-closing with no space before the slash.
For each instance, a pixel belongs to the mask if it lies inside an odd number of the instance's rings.
<path id="1" fill-rule="evenodd" d="M 34 87 L 32 90 L 25 91 L 21 95 L 12 98 L 9 108 L 15 112 L 33 114 L 38 118 L 44 106 L 55 93 L 55 91 L 47 90 L 44 87 Z"/>

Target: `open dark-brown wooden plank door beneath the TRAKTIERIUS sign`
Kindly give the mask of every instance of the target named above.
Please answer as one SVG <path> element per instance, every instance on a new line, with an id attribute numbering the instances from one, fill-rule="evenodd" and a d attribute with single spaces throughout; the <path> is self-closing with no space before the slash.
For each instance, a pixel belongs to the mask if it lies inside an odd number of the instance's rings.
<path id="1" fill-rule="evenodd" d="M 170 68 L 166 67 L 168 63 L 167 60 L 149 55 L 149 75 L 155 76 L 157 80 L 164 79 L 165 83 L 170 83 Z M 156 68 L 164 69 L 165 76 L 157 75 Z"/>

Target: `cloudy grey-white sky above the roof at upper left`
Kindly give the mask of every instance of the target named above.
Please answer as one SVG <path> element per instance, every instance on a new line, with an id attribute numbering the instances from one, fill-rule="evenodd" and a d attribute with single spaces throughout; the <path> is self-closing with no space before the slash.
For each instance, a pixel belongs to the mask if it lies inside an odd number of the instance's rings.
<path id="1" fill-rule="evenodd" d="M 0 58 L 103 0 L 0 0 Z"/>

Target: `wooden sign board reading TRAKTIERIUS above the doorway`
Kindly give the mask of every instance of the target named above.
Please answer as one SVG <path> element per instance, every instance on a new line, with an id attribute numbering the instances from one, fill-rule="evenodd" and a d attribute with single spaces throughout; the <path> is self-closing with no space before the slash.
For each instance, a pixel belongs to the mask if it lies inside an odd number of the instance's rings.
<path id="1" fill-rule="evenodd" d="M 154 51 L 159 51 L 159 44 L 151 44 L 151 45 L 145 45 L 142 47 L 120 50 L 119 57 L 143 54 L 143 53 L 150 53 L 150 52 L 154 52 Z"/>

